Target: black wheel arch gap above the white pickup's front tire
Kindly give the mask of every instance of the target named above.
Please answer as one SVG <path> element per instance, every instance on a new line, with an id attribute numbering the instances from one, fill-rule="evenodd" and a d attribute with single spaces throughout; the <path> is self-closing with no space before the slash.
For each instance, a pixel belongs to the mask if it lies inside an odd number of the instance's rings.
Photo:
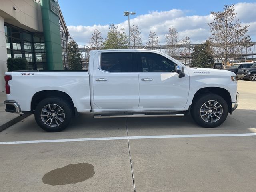
<path id="1" fill-rule="evenodd" d="M 194 97 L 193 97 L 193 100 L 192 100 L 192 105 L 194 103 L 194 100 L 197 98 L 197 96 L 199 96 L 200 94 L 207 94 L 207 93 L 217 94 L 217 95 L 221 96 L 222 98 L 224 98 L 224 100 L 228 104 L 228 112 L 231 114 L 231 112 L 232 112 L 232 102 L 231 102 L 230 93 L 228 92 L 228 90 L 226 90 L 224 88 L 220 88 L 220 87 L 204 87 L 204 88 L 199 89 L 194 94 Z"/>

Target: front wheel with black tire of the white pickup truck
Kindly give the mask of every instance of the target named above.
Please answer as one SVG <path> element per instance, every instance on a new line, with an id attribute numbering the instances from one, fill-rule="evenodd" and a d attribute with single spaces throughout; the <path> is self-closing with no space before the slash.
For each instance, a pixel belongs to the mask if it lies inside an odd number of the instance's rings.
<path id="1" fill-rule="evenodd" d="M 217 127 L 220 126 L 228 116 L 228 104 L 224 98 L 216 94 L 200 95 L 192 103 L 191 115 L 194 121 L 202 127 Z"/>

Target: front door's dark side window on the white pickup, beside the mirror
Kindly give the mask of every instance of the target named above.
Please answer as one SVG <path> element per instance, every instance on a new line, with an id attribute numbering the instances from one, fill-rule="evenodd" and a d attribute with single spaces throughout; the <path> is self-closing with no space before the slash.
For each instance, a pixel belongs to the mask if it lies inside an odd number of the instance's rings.
<path id="1" fill-rule="evenodd" d="M 175 72 L 175 63 L 156 53 L 139 52 L 141 72 Z"/>

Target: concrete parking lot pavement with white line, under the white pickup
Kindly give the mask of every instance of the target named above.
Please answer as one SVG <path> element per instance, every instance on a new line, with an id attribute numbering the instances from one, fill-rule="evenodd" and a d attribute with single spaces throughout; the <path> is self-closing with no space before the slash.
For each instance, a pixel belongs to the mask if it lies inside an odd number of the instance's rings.
<path id="1" fill-rule="evenodd" d="M 0 191 L 255 192 L 256 82 L 238 91 L 238 109 L 218 128 L 82 114 L 48 133 L 29 116 L 0 132 Z M 13 141 L 25 143 L 3 144 Z"/>

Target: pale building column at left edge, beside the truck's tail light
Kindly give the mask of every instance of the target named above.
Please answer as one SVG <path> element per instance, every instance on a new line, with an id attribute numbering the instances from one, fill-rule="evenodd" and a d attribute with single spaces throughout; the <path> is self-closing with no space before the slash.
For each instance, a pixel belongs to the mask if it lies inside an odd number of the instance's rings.
<path id="1" fill-rule="evenodd" d="M 4 73 L 7 71 L 7 49 L 4 32 L 4 18 L 0 16 L 0 92 L 5 91 Z"/>

